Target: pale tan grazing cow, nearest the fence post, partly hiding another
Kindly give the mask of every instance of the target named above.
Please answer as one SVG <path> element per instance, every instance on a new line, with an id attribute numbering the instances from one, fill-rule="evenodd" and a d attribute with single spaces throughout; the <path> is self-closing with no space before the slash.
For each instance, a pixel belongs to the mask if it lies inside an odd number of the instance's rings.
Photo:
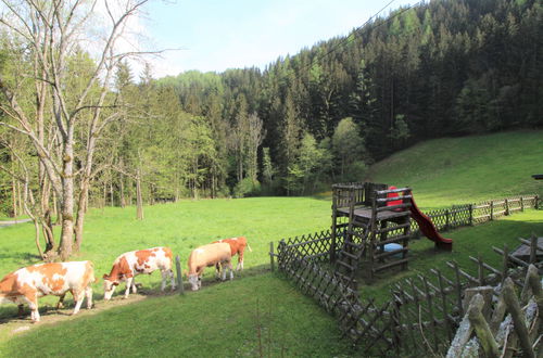
<path id="1" fill-rule="evenodd" d="M 189 256 L 189 282 L 192 291 L 198 291 L 202 286 L 203 270 L 217 264 L 223 267 L 223 281 L 226 280 L 225 266 L 230 270 L 230 280 L 233 279 L 231 260 L 230 245 L 227 243 L 214 243 L 194 248 Z"/>

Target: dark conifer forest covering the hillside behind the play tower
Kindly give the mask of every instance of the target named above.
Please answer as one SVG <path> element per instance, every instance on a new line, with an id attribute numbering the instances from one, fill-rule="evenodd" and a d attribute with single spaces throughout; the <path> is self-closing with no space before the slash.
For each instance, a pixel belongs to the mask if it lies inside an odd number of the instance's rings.
<path id="1" fill-rule="evenodd" d="M 431 1 L 263 72 L 189 72 L 156 86 L 211 127 L 198 178 L 209 194 L 247 193 L 256 180 L 304 194 L 359 180 L 421 140 L 541 126 L 542 20 L 538 1 Z"/>

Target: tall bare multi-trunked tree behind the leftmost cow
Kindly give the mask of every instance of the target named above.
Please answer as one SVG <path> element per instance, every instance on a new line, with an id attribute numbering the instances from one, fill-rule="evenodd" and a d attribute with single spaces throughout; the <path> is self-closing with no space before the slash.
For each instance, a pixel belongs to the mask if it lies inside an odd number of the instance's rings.
<path id="1" fill-rule="evenodd" d="M 93 171 L 97 141 L 104 127 L 116 118 L 115 111 L 106 111 L 109 85 L 115 65 L 134 51 L 119 51 L 118 42 L 130 17 L 137 15 L 148 0 L 1 0 L 3 25 L 13 53 L 21 53 L 26 61 L 18 76 L 0 74 L 3 101 L 0 110 L 8 120 L 0 122 L 23 133 L 31 142 L 45 175 L 61 203 L 62 230 L 59 254 L 67 259 L 73 251 L 74 230 L 77 250 L 83 241 L 83 222 L 88 200 L 89 182 Z M 98 11 L 100 10 L 100 11 Z M 98 22 L 96 14 L 105 14 Z M 98 30 L 97 30 L 98 29 Z M 93 31 L 93 33 L 91 33 Z M 99 36 L 91 36 L 99 34 Z M 87 41 L 87 42 L 84 42 Z M 68 61 L 81 48 L 91 49 L 94 59 L 92 72 L 81 78 L 83 85 L 70 86 Z M 34 106 L 28 105 L 25 81 L 35 84 Z M 108 112 L 108 113 L 106 113 Z M 48 117 L 49 116 L 49 117 Z M 84 120 L 86 118 L 86 120 Z M 90 119 L 89 119 L 90 118 Z M 60 156 L 54 141 L 46 141 L 46 128 L 60 144 Z M 85 126 L 86 155 L 76 166 L 76 130 Z M 77 223 L 74 226 L 75 177 L 80 175 Z M 45 178 L 45 176 L 43 176 Z M 46 195 L 47 196 L 47 195 Z M 41 195 L 42 201 L 49 201 Z M 43 203 L 43 205 L 46 205 Z"/>

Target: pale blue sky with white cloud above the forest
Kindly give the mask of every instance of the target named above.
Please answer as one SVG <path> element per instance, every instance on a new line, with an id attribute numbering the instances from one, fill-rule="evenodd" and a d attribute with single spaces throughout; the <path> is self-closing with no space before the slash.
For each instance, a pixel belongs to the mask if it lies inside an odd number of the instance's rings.
<path id="1" fill-rule="evenodd" d="M 392 2 L 392 3 L 391 3 Z M 417 0 L 155 0 L 138 27 L 153 77 L 266 65 Z M 387 7 L 388 5 L 388 7 Z M 135 68 L 136 69 L 136 68 Z M 137 69 L 136 69 L 137 71 Z"/>

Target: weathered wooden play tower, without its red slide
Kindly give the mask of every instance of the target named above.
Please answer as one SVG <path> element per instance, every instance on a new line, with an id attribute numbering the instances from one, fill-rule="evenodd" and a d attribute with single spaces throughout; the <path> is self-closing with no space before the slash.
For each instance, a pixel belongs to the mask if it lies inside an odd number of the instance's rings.
<path id="1" fill-rule="evenodd" d="M 339 277 L 356 287 L 363 260 L 370 278 L 396 266 L 407 269 L 412 190 L 352 182 L 333 184 L 332 194 L 330 259 Z M 343 243 L 337 247 L 340 236 Z"/>

